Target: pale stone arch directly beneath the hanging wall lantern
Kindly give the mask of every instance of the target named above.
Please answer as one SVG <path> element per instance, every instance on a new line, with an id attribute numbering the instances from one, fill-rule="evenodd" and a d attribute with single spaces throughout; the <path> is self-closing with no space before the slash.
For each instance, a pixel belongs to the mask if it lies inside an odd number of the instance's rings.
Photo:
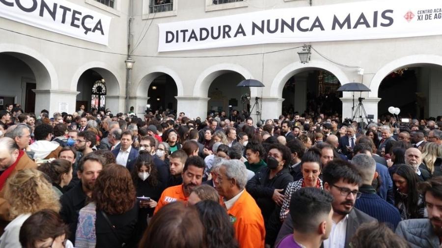
<path id="1" fill-rule="evenodd" d="M 295 74 L 313 69 L 321 69 L 334 74 L 339 79 L 341 85 L 350 82 L 347 75 L 341 69 L 339 69 L 337 66 L 331 63 L 323 61 L 310 61 L 309 63 L 306 64 L 302 64 L 300 62 L 294 62 L 287 65 L 276 74 L 275 79 L 273 80 L 272 85 L 270 86 L 270 97 L 281 98 L 282 89 L 290 77 L 292 77 Z M 343 97 L 349 97 L 349 96 L 350 96 L 349 92 L 343 92 Z"/>

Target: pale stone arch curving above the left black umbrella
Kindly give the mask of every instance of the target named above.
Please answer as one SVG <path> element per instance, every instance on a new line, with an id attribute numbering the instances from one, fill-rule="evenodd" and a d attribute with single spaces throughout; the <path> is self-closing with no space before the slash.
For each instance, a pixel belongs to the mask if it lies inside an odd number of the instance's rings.
<path id="1" fill-rule="evenodd" d="M 207 98 L 209 87 L 213 80 L 227 72 L 241 74 L 246 79 L 254 79 L 251 73 L 240 65 L 231 63 L 213 65 L 204 70 L 196 79 L 196 83 L 193 86 L 193 96 Z M 250 96 L 257 96 L 256 87 L 250 87 Z"/>

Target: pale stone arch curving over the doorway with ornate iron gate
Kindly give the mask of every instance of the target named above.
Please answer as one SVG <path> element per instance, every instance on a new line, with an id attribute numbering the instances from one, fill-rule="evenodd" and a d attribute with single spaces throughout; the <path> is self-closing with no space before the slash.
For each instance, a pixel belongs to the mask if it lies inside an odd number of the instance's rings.
<path id="1" fill-rule="evenodd" d="M 94 70 L 106 81 L 106 88 L 109 96 L 119 96 L 121 92 L 124 92 L 120 87 L 119 82 L 123 82 L 122 78 L 117 77 L 112 72 L 118 72 L 115 68 L 111 67 L 107 63 L 101 61 L 92 61 L 86 64 L 83 64 L 80 68 L 72 76 L 70 89 L 72 91 L 77 91 L 77 84 L 80 79 L 80 76 L 88 69 Z M 123 85 L 124 86 L 124 85 Z"/>

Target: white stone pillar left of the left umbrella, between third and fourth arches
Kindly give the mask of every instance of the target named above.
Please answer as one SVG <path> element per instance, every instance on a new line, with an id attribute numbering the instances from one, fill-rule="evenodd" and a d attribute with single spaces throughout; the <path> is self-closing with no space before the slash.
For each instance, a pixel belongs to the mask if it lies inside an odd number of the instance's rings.
<path id="1" fill-rule="evenodd" d="M 177 114 L 184 112 L 189 118 L 199 117 L 205 120 L 207 117 L 207 102 L 210 98 L 192 97 L 192 96 L 178 96 L 177 99 Z"/>

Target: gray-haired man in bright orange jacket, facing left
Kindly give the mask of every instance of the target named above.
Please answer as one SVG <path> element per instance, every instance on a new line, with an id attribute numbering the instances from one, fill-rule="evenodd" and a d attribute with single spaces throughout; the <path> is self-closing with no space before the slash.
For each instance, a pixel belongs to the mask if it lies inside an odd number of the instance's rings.
<path id="1" fill-rule="evenodd" d="M 216 173 L 216 189 L 224 199 L 240 247 L 264 248 L 264 219 L 261 209 L 245 189 L 246 166 L 237 159 L 227 160 L 222 162 Z"/>

